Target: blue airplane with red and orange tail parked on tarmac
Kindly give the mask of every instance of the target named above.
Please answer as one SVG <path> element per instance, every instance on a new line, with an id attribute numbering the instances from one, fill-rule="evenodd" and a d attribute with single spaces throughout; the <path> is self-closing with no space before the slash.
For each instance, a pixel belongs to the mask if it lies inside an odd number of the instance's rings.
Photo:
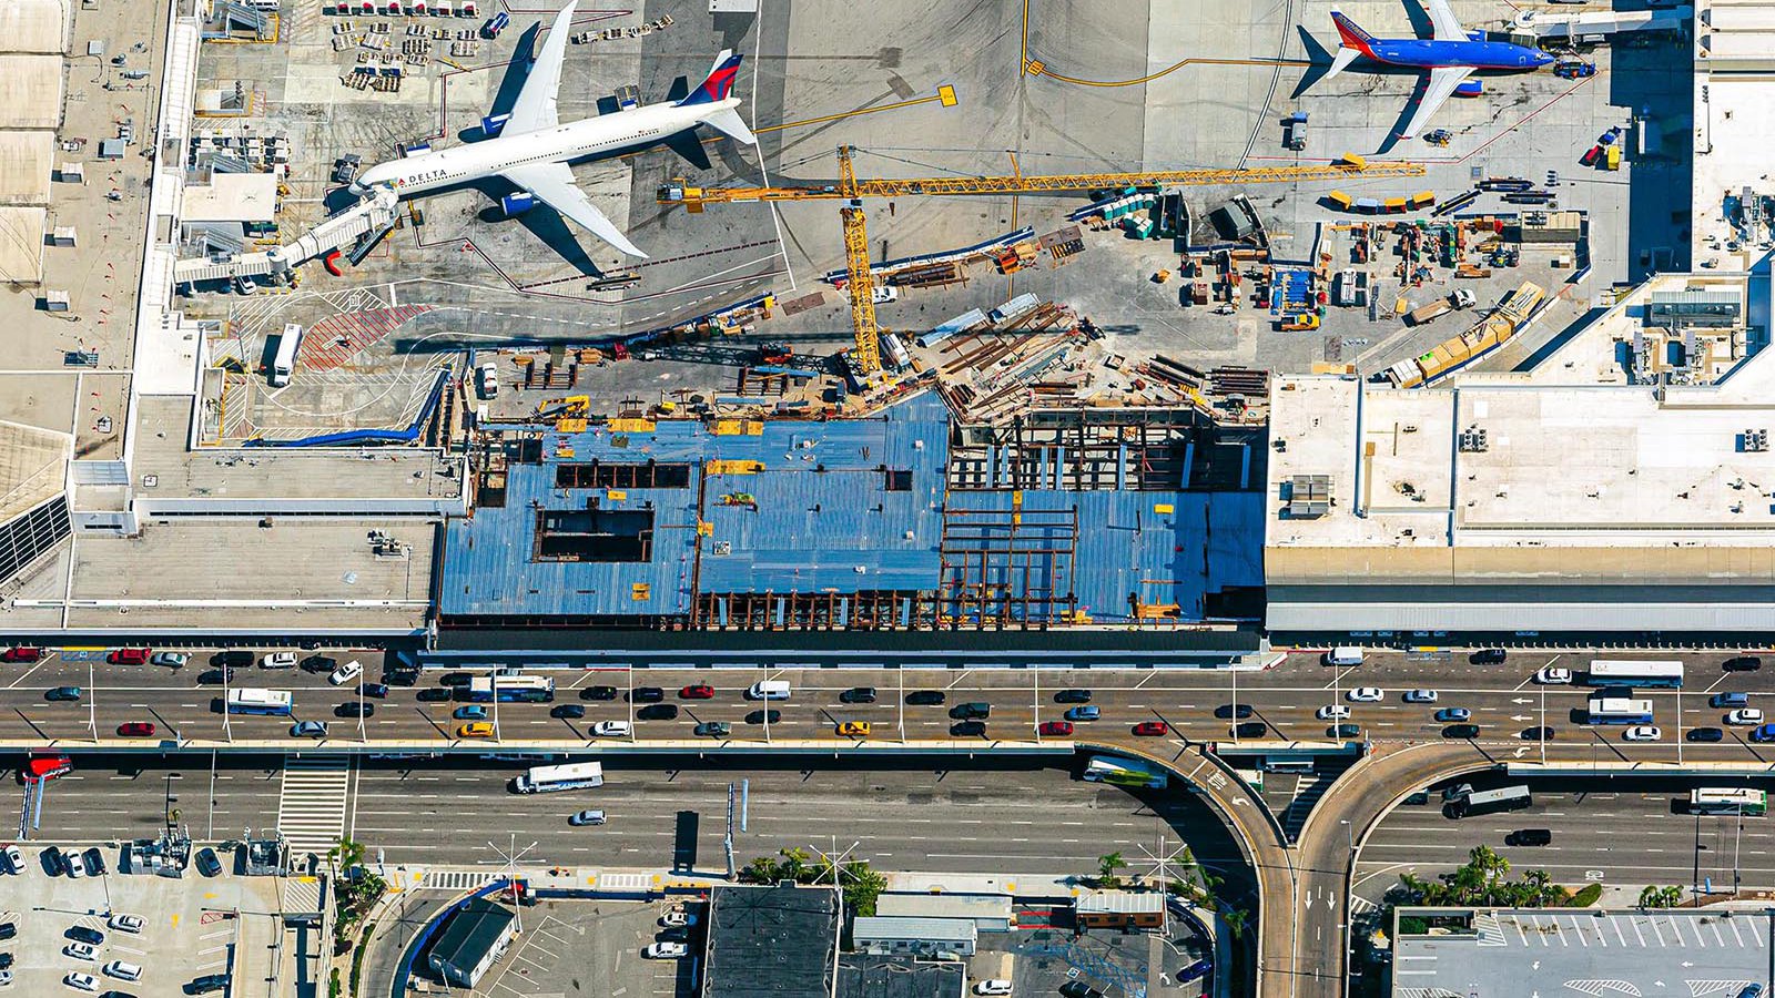
<path id="1" fill-rule="evenodd" d="M 1468 30 L 1461 27 L 1461 21 L 1456 20 L 1454 11 L 1448 7 L 1448 0 L 1424 0 L 1424 5 L 1429 9 L 1431 27 L 1434 28 L 1427 39 L 1374 37 L 1358 28 L 1356 21 L 1331 11 L 1331 21 L 1337 25 L 1337 34 L 1338 39 L 1342 39 L 1342 44 L 1337 50 L 1337 57 L 1331 60 L 1331 71 L 1322 76 L 1324 80 L 1329 80 L 1347 69 L 1358 57 L 1386 62 L 1390 66 L 1409 66 L 1413 69 L 1431 71 L 1424 99 L 1418 101 L 1418 112 L 1411 115 L 1411 123 L 1399 133 L 1400 139 L 1415 137 L 1424 123 L 1436 114 L 1436 108 L 1440 108 L 1475 69 L 1537 69 L 1553 62 L 1553 57 L 1546 51 L 1511 44 L 1507 41 L 1480 41 L 1484 39 L 1480 32 L 1468 34 Z M 1477 89 L 1479 83 L 1473 83 L 1473 87 Z"/>

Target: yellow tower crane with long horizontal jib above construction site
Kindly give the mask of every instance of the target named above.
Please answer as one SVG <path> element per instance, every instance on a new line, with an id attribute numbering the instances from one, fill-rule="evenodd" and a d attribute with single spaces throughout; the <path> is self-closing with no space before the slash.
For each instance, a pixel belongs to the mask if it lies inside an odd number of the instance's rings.
<path id="1" fill-rule="evenodd" d="M 1053 176 L 948 176 L 907 179 L 856 178 L 850 163 L 852 149 L 838 149 L 836 185 L 797 186 L 689 186 L 682 178 L 659 188 L 660 204 L 682 204 L 701 211 L 706 204 L 744 204 L 749 201 L 818 201 L 843 199 L 840 210 L 845 229 L 845 273 L 850 291 L 850 321 L 857 336 L 857 364 L 864 375 L 880 371 L 880 343 L 875 325 L 875 282 L 870 275 L 868 234 L 863 226 L 864 197 L 907 197 L 921 194 L 1045 194 L 1060 190 L 1109 190 L 1118 186 L 1202 186 L 1248 183 L 1298 183 L 1347 178 L 1415 178 L 1424 176 L 1424 163 L 1367 162 L 1347 156 L 1335 163 L 1305 167 L 1257 167 L 1248 170 L 1143 170 L 1127 174 L 1053 174 Z"/>

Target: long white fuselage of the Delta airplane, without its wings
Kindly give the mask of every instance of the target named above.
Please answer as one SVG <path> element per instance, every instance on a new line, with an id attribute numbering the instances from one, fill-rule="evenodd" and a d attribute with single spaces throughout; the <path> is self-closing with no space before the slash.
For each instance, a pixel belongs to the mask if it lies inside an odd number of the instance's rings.
<path id="1" fill-rule="evenodd" d="M 502 133 L 485 142 L 376 163 L 357 176 L 351 190 L 362 195 L 385 186 L 399 197 L 414 197 L 493 178 L 513 167 L 614 156 L 664 142 L 703 124 L 710 114 L 738 105 L 738 98 L 683 107 L 657 103 L 517 135 Z"/>

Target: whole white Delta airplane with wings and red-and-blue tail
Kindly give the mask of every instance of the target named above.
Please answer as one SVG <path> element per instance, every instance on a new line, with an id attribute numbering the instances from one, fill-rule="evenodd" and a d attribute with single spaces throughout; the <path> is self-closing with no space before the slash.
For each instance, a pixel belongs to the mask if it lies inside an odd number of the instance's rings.
<path id="1" fill-rule="evenodd" d="M 568 23 L 577 5 L 579 0 L 573 0 L 556 14 L 548 41 L 543 43 L 536 66 L 497 139 L 376 163 L 359 174 L 351 192 L 366 195 L 389 190 L 396 197 L 415 197 L 501 176 L 621 252 L 646 257 L 648 254 L 630 243 L 573 183 L 570 163 L 659 146 L 698 124 L 706 124 L 735 142 L 756 146 L 758 139 L 733 110 L 740 99 L 730 96 L 733 78 L 740 73 L 740 57 L 722 50 L 708 78 L 682 101 L 561 124 L 557 108 L 561 64 L 566 60 Z"/>

